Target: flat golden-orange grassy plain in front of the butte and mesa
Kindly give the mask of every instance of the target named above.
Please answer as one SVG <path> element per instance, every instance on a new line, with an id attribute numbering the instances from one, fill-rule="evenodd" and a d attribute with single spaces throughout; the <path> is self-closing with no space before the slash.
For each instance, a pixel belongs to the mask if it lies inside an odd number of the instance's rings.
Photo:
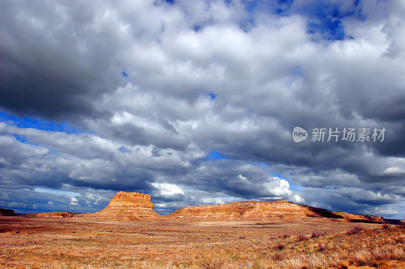
<path id="1" fill-rule="evenodd" d="M 403 226 L 0 217 L 2 268 L 405 268 Z"/>

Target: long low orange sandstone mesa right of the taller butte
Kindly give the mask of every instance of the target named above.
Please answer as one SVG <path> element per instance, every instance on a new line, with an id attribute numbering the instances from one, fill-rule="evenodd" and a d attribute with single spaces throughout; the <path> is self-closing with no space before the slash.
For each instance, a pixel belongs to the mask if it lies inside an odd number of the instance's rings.
<path id="1" fill-rule="evenodd" d="M 333 212 L 289 201 L 247 201 L 217 205 L 187 206 L 168 215 L 183 220 L 288 220 L 308 218 L 343 219 Z"/>

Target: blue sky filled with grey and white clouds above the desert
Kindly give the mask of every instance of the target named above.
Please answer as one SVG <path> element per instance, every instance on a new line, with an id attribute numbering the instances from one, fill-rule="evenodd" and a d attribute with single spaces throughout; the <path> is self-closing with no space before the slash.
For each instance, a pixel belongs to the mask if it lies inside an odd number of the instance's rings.
<path id="1" fill-rule="evenodd" d="M 405 219 L 404 28 L 399 0 L 1 1 L 0 207 L 136 191 L 161 214 L 282 199 Z"/>

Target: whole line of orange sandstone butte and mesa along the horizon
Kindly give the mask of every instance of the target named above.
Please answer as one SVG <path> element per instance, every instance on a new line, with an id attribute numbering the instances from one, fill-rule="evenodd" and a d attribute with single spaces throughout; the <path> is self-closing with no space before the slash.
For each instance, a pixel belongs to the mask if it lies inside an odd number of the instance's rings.
<path id="1" fill-rule="evenodd" d="M 0 209 L 0 216 L 63 217 L 100 221 L 293 221 L 323 218 L 338 222 L 405 224 L 401 220 L 388 220 L 379 216 L 347 212 L 333 212 L 328 209 L 296 204 L 285 200 L 242 201 L 216 205 L 187 206 L 171 214 L 160 215 L 153 211 L 150 195 L 124 191 L 116 193 L 107 207 L 95 213 L 50 212 L 16 215 L 13 210 Z"/>

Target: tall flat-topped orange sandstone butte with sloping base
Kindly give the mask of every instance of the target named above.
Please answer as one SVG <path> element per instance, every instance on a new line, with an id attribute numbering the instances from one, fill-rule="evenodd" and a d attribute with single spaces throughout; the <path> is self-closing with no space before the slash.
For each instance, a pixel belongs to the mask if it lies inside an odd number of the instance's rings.
<path id="1" fill-rule="evenodd" d="M 79 214 L 80 218 L 100 218 L 113 221 L 136 221 L 154 219 L 160 215 L 153 211 L 150 195 L 139 192 L 120 191 L 115 194 L 104 209 L 87 214 Z"/>

